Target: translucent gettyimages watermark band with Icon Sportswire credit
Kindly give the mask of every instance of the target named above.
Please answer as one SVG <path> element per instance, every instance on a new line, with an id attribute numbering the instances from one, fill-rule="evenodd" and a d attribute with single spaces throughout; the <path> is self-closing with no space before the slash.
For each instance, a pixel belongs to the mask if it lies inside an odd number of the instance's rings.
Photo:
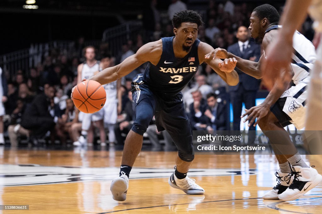
<path id="1" fill-rule="evenodd" d="M 289 139 L 285 140 L 285 131 L 193 131 L 195 152 L 214 154 L 276 154 L 293 155 L 289 144 L 294 144 L 300 154 L 322 154 L 322 131 L 287 130 Z M 272 147 L 268 137 L 274 141 Z M 284 140 L 283 140 L 284 139 Z M 273 149 L 275 151 L 273 151 Z"/>

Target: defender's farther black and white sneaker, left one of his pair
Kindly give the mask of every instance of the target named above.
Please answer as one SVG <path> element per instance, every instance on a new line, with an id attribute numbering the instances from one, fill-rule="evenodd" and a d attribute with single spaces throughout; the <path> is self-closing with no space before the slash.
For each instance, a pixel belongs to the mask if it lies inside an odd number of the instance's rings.
<path id="1" fill-rule="evenodd" d="M 283 193 L 289 185 L 292 184 L 294 176 L 289 173 L 282 173 L 280 171 L 275 173 L 276 181 L 278 184 L 273 187 L 273 189 L 263 195 L 263 199 L 269 199 L 269 200 L 274 200 L 274 199 L 279 199 L 279 195 Z"/>

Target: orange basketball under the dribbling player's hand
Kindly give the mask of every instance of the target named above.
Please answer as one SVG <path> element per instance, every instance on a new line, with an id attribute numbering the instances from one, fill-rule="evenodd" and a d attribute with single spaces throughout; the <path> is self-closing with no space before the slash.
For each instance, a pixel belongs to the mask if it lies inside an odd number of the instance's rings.
<path id="1" fill-rule="evenodd" d="M 99 82 L 86 80 L 78 83 L 73 92 L 73 102 L 76 108 L 84 113 L 95 113 L 105 104 L 106 92 Z"/>

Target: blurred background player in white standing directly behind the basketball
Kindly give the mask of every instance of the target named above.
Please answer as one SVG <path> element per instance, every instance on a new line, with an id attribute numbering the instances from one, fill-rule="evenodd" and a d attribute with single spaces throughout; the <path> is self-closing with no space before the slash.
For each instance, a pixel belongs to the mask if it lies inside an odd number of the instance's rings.
<path id="1" fill-rule="evenodd" d="M 77 71 L 77 82 L 81 82 L 83 79 L 89 79 L 94 75 L 96 71 L 99 70 L 99 61 L 95 59 L 95 48 L 93 46 L 88 46 L 84 48 L 84 55 L 86 61 L 78 65 Z M 80 118 L 82 118 L 82 131 L 81 136 L 78 141 L 73 143 L 74 146 L 81 146 L 86 143 L 86 138 L 88 143 L 92 144 L 94 139 L 94 131 L 92 127 L 92 121 L 95 126 L 99 128 L 100 140 L 101 142 L 106 141 L 106 134 L 103 125 L 103 115 L 99 112 L 94 114 L 86 114 L 80 112 Z"/>

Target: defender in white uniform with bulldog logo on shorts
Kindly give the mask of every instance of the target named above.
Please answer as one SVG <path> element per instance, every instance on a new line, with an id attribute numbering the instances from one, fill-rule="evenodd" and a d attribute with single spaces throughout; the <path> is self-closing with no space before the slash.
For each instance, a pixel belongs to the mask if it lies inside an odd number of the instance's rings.
<path id="1" fill-rule="evenodd" d="M 206 55 L 206 58 L 235 57 L 238 60 L 237 68 L 259 79 L 262 77 L 260 66 L 265 61 L 267 47 L 278 37 L 278 29 L 282 26 L 277 25 L 279 13 L 270 4 L 256 7 L 251 13 L 250 21 L 251 37 L 262 41 L 264 48 L 264 54 L 258 63 L 234 56 L 222 48 L 213 50 Z M 246 109 L 245 114 L 242 115 L 242 117 L 248 115 L 244 122 L 249 120 L 249 125 L 257 118 L 254 126 L 258 124 L 270 139 L 270 144 L 279 162 L 280 171 L 275 173 L 279 183 L 263 196 L 264 199 L 295 200 L 319 184 L 322 179 L 316 169 L 304 162 L 283 128 L 291 123 L 298 129 L 304 127 L 306 90 L 310 80 L 309 69 L 313 68 L 316 60 L 315 48 L 308 39 L 296 31 L 293 32 L 293 40 L 295 41 L 293 44 L 295 55 L 292 57 L 293 62 L 289 65 L 291 69 L 281 72 L 281 78 L 275 82 L 262 104 L 249 110 Z M 293 80 L 295 86 L 289 87 L 290 79 Z"/>

